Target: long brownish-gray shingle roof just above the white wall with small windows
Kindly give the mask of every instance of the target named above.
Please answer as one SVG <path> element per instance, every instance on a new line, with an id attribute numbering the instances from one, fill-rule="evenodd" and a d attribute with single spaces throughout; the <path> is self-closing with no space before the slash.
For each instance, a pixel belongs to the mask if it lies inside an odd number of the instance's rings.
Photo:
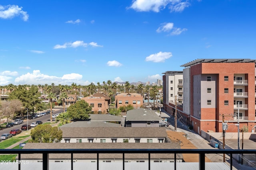
<path id="1" fill-rule="evenodd" d="M 62 138 L 166 137 L 165 127 L 60 127 Z"/>

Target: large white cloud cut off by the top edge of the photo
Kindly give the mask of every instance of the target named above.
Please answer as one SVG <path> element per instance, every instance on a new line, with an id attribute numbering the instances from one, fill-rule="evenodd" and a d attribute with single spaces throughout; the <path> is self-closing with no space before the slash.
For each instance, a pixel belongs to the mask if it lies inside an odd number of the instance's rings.
<path id="1" fill-rule="evenodd" d="M 139 12 L 160 12 L 168 6 L 170 12 L 182 12 L 189 5 L 188 0 L 133 0 L 128 8 Z"/>

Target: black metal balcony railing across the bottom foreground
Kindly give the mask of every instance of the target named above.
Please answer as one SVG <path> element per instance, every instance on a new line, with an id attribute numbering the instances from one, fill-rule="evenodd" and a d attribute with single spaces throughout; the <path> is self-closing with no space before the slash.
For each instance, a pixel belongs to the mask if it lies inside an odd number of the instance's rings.
<path id="1" fill-rule="evenodd" d="M 21 154 L 42 154 L 42 169 L 49 169 L 49 154 L 70 154 L 70 168 L 73 170 L 73 154 L 97 154 L 97 170 L 99 170 L 99 154 L 122 154 L 122 169 L 125 169 L 125 154 L 148 154 L 148 170 L 150 170 L 150 154 L 174 154 L 174 170 L 177 169 L 176 156 L 179 154 L 198 154 L 199 170 L 205 169 L 205 154 L 228 154 L 230 155 L 230 170 L 233 166 L 234 154 L 255 154 L 256 150 L 215 150 L 215 149 L 0 149 L 1 154 L 18 154 L 18 161 L 21 162 Z M 241 157 L 241 156 L 240 156 Z M 18 164 L 18 170 L 20 170 Z M 172 169 L 170 167 L 170 169 Z"/>

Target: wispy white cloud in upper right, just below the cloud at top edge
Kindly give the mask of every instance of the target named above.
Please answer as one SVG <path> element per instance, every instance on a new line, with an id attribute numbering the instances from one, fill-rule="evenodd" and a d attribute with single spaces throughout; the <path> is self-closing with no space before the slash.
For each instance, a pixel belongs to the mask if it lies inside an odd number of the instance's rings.
<path id="1" fill-rule="evenodd" d="M 187 31 L 186 28 L 176 28 L 174 27 L 174 23 L 168 22 L 168 23 L 161 23 L 161 26 L 156 29 L 156 32 L 170 32 L 170 35 L 180 35 L 183 31 Z"/>

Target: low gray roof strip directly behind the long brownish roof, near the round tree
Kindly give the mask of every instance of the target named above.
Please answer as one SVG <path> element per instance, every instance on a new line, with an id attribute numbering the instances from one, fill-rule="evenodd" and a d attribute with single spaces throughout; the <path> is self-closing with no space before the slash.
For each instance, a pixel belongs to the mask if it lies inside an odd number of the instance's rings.
<path id="1" fill-rule="evenodd" d="M 110 123 L 105 121 L 76 121 L 67 123 L 61 127 L 120 127 L 118 123 Z"/>

